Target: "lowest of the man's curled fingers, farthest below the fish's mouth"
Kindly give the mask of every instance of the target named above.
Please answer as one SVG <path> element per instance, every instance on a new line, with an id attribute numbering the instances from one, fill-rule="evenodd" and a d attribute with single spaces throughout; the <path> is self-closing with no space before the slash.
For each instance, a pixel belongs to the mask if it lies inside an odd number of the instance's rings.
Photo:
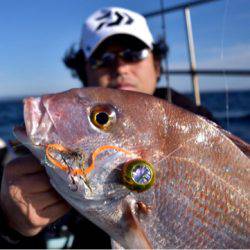
<path id="1" fill-rule="evenodd" d="M 68 213 L 70 209 L 71 206 L 68 203 L 65 201 L 59 201 L 39 211 L 38 214 L 44 218 L 44 224 L 50 224 Z"/>

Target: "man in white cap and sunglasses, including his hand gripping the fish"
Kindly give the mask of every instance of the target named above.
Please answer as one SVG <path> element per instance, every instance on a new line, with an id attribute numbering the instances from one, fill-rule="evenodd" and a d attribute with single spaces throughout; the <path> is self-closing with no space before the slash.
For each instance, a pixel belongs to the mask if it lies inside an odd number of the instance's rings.
<path id="1" fill-rule="evenodd" d="M 86 86 L 153 94 L 160 77 L 163 52 L 154 43 L 143 16 L 122 8 L 106 8 L 96 11 L 87 19 L 80 50 L 68 55 L 65 63 Z M 5 167 L 1 208 L 1 217 L 5 219 L 1 234 L 9 242 L 6 244 L 10 244 L 5 247 L 11 248 L 31 247 L 23 242 L 31 242 L 36 235 L 37 239 L 41 239 L 39 235 L 45 232 L 44 229 L 48 229 L 71 209 L 53 190 L 43 168 L 30 155 L 17 158 Z M 80 235 L 75 238 L 79 243 L 73 244 L 74 248 L 109 247 L 107 236 L 102 232 L 86 221 L 74 223 L 72 218 L 76 217 L 69 216 L 65 220 L 67 225 L 71 224 L 71 228 L 78 228 L 74 234 Z M 91 230 L 97 241 L 90 240 L 88 231 Z M 41 247 L 39 244 L 37 246 Z"/>

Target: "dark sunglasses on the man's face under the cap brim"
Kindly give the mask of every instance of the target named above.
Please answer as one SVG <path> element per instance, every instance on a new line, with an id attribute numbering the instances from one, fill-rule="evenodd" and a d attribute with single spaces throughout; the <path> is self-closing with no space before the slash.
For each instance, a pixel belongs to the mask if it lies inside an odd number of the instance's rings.
<path id="1" fill-rule="evenodd" d="M 113 53 L 103 53 L 99 58 L 91 57 L 89 63 L 93 69 L 108 68 L 115 65 L 117 58 L 121 58 L 124 62 L 132 63 L 139 62 L 147 58 L 149 55 L 149 49 L 144 48 L 141 50 L 126 49 L 124 51 Z"/>

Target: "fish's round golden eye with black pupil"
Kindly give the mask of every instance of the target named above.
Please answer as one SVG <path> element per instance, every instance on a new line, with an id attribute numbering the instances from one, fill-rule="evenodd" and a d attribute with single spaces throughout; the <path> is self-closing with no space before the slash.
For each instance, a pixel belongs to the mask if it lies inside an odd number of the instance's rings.
<path id="1" fill-rule="evenodd" d="M 111 105 L 97 105 L 91 109 L 90 121 L 94 126 L 109 131 L 116 121 L 116 113 Z"/>

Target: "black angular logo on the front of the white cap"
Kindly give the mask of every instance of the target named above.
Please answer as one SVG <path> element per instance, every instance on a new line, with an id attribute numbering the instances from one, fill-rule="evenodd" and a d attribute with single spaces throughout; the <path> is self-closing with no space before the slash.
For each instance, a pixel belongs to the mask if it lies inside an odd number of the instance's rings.
<path id="1" fill-rule="evenodd" d="M 112 17 L 112 18 L 111 18 Z M 95 19 L 99 24 L 96 27 L 96 31 L 100 30 L 102 27 L 111 27 L 121 24 L 129 25 L 134 22 L 134 19 L 127 13 L 111 10 L 104 12 L 102 16 Z"/>

